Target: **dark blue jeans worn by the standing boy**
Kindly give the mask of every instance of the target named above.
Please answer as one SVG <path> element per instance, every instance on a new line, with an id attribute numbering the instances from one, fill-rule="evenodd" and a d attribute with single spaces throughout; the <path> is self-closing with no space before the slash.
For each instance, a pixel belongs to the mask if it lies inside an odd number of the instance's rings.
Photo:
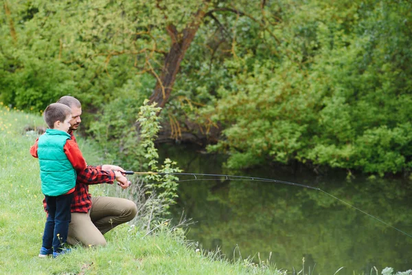
<path id="1" fill-rule="evenodd" d="M 43 248 L 53 247 L 54 252 L 62 251 L 63 245 L 67 241 L 73 196 L 73 192 L 57 197 L 45 196 L 48 215 L 43 234 Z"/>

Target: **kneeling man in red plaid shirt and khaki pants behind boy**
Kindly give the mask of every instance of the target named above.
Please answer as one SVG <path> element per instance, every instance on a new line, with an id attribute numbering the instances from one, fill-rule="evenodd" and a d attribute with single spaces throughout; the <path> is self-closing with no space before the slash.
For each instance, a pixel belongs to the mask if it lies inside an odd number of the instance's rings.
<path id="1" fill-rule="evenodd" d="M 76 142 L 73 131 L 78 129 L 82 105 L 72 96 L 63 96 L 58 103 L 71 108 L 69 134 Z M 122 173 L 125 170 L 119 166 L 102 165 L 87 166 L 76 179 L 76 189 L 71 203 L 71 223 L 67 243 L 76 245 L 106 245 L 103 234 L 117 225 L 131 221 L 137 214 L 137 207 L 133 201 L 117 197 L 91 197 L 89 184 L 113 184 L 118 181 L 119 186 L 126 189 L 130 181 Z"/>

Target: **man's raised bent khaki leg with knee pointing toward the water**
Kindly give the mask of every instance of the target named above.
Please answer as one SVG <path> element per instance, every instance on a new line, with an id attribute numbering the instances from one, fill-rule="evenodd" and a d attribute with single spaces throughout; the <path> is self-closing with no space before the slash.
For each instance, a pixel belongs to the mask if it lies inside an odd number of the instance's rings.
<path id="1" fill-rule="evenodd" d="M 131 221 L 137 214 L 133 201 L 117 197 L 92 197 L 90 218 L 102 234 Z"/>

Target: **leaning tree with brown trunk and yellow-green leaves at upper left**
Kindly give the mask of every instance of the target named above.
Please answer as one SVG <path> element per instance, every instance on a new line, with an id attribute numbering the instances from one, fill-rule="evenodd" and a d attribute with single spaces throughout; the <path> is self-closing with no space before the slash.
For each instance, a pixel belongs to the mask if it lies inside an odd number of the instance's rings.
<path id="1" fill-rule="evenodd" d="M 250 5 L 246 1 L 239 4 L 244 5 L 244 8 L 255 9 L 259 6 L 256 5 L 258 3 Z M 7 1 L 4 2 L 4 7 L 15 42 L 16 30 L 13 28 Z M 92 91 L 95 95 L 91 98 L 84 98 L 87 102 L 101 102 L 102 95 L 112 94 L 98 86 L 106 85 L 104 88 L 107 89 L 108 84 L 115 84 L 111 87 L 113 89 L 121 86 L 125 79 L 132 78 L 133 74 L 124 72 L 126 69 L 131 69 L 134 74 L 148 73 L 156 82 L 150 100 L 157 102 L 159 107 L 164 107 L 170 98 L 185 53 L 205 17 L 211 17 L 218 28 L 224 28 L 215 14 L 228 12 L 236 14 L 236 17 L 247 16 L 258 22 L 250 14 L 234 7 L 230 1 L 197 0 L 187 3 L 159 0 L 150 3 L 113 3 L 99 0 L 75 4 L 71 1 L 20 1 L 14 6 L 13 17 L 14 21 L 19 21 L 17 32 L 21 34 L 22 41 L 29 39 L 30 42 L 20 43 L 12 50 L 3 51 L 4 56 L 11 56 L 12 51 L 21 52 L 16 63 L 39 58 L 43 63 L 58 61 L 59 66 L 71 71 L 87 70 L 88 72 L 72 78 L 76 82 L 76 94 L 90 92 L 93 86 L 94 90 L 98 89 Z M 229 33 L 227 30 L 225 32 Z M 47 54 L 38 51 L 36 45 L 47 48 Z M 27 55 L 30 55 L 30 61 L 21 61 L 21 56 Z M 119 74 L 127 76 L 116 83 L 113 78 L 118 78 Z M 91 85 L 80 79 L 84 77 L 89 79 Z M 103 77 L 109 79 L 102 79 Z M 95 85 L 95 82 L 99 83 Z M 28 102 L 19 102 L 17 96 L 15 102 L 10 103 L 27 108 Z"/>

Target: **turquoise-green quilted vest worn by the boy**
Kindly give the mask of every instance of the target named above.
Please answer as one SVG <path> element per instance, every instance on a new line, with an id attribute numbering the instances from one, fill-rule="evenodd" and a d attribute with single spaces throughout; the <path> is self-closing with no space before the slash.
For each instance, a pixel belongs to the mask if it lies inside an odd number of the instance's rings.
<path id="1" fill-rule="evenodd" d="M 47 129 L 44 135 L 38 137 L 37 155 L 44 195 L 60 196 L 76 185 L 76 170 L 63 151 L 69 139 L 68 133 L 55 129 Z"/>

